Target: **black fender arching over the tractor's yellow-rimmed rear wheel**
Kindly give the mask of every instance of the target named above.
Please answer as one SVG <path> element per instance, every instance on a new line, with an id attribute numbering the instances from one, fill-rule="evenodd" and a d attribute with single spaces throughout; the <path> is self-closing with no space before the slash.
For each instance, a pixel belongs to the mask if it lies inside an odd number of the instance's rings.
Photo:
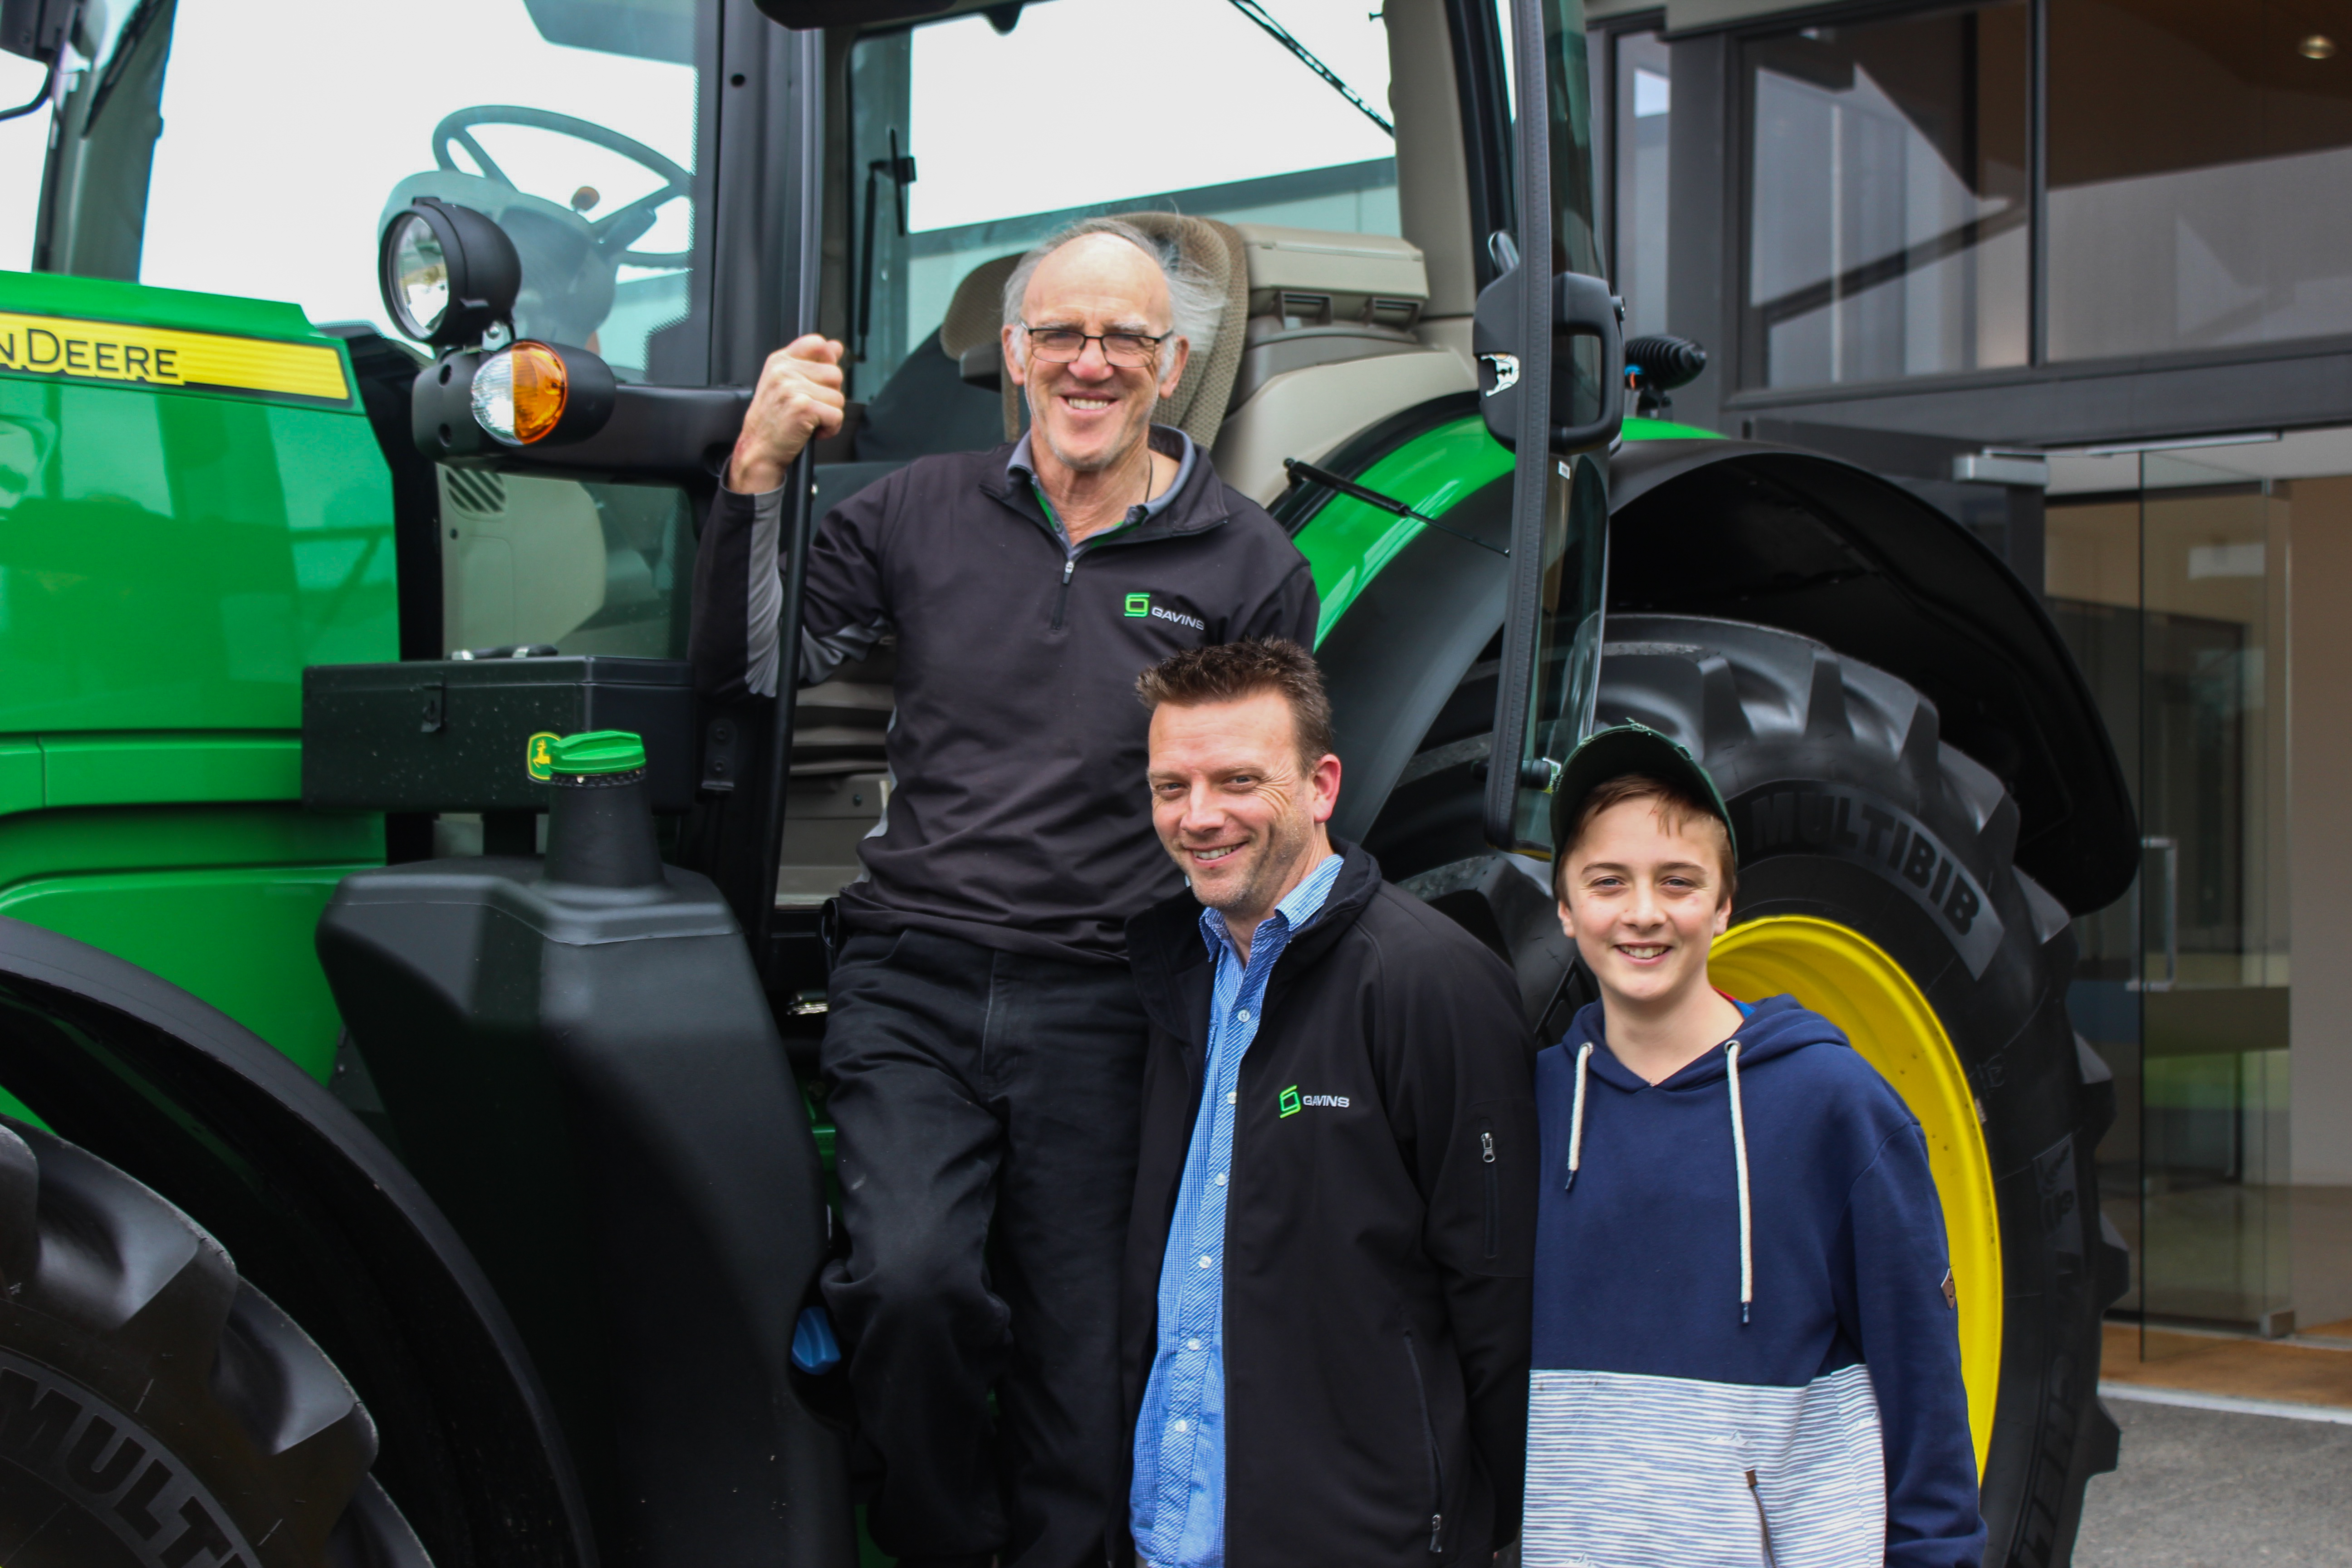
<path id="1" fill-rule="evenodd" d="M 1625 442 L 1609 614 L 1776 625 L 1910 682 L 2018 806 L 2016 863 L 2070 912 L 2122 898 L 2138 813 L 2039 595 L 1976 534 L 1863 468 L 1731 440 Z"/>

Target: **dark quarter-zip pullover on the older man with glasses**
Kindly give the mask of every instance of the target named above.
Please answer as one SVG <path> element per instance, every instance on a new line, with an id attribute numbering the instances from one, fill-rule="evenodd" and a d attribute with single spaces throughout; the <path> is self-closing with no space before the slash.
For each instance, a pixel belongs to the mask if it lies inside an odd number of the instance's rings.
<path id="1" fill-rule="evenodd" d="M 866 877 L 842 889 L 842 914 L 1117 961 L 1127 917 L 1183 886 L 1152 835 L 1136 675 L 1211 642 L 1312 646 L 1315 578 L 1207 454 L 1160 512 L 1070 557 L 1004 473 L 1011 451 L 917 458 L 816 527 L 804 646 L 898 635 L 889 825 L 858 846 Z M 720 491 L 694 562 L 706 696 L 743 696 L 762 639 L 774 646 L 774 534 L 753 496 Z"/>

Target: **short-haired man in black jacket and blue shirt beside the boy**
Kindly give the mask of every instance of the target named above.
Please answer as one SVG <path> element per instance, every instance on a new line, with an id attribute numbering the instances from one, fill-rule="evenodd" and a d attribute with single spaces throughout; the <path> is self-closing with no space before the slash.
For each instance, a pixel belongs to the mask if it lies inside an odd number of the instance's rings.
<path id="1" fill-rule="evenodd" d="M 1334 844 L 1331 708 L 1289 642 L 1138 682 L 1192 889 L 1127 924 L 1150 1013 L 1110 1556 L 1486 1563 L 1519 1528 L 1536 1227 L 1510 971 Z"/>

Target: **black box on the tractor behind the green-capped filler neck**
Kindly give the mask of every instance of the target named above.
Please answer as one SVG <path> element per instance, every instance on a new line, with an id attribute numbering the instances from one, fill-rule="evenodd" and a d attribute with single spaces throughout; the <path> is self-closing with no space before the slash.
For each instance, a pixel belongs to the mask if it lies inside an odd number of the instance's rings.
<path id="1" fill-rule="evenodd" d="M 301 672 L 301 804 L 318 811 L 546 811 L 532 736 L 644 738 L 654 811 L 694 804 L 682 658 L 430 658 Z"/>

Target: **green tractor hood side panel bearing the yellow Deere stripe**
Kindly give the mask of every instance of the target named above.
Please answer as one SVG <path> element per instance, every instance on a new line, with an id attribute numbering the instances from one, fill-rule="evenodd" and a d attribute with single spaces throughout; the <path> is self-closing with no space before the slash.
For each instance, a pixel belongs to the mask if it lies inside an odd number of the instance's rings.
<path id="1" fill-rule="evenodd" d="M 301 670 L 397 658 L 353 386 L 294 306 L 0 273 L 0 912 L 318 1077 L 310 931 L 383 830 L 294 806 Z"/>

